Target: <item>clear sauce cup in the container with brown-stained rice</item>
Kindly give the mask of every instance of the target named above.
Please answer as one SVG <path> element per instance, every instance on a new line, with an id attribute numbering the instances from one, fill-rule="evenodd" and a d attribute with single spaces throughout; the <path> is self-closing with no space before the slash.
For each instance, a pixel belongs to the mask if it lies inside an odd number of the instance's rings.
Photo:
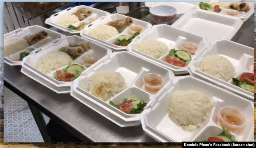
<path id="1" fill-rule="evenodd" d="M 148 73 L 144 76 L 143 82 L 145 89 L 150 92 L 157 92 L 163 86 L 163 78 L 155 73 Z"/>

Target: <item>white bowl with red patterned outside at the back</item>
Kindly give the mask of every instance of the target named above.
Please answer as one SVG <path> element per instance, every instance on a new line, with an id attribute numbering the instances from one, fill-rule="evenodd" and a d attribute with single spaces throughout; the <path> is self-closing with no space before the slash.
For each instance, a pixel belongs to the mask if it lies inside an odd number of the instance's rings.
<path id="1" fill-rule="evenodd" d="M 150 8 L 149 12 L 157 24 L 168 24 L 175 17 L 177 10 L 169 5 L 157 5 Z"/>

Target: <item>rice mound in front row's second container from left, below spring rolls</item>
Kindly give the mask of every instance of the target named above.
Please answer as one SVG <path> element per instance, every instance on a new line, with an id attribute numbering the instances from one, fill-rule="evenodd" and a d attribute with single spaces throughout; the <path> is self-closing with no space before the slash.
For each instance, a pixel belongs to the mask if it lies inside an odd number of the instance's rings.
<path id="1" fill-rule="evenodd" d="M 43 73 L 50 73 L 68 65 L 72 61 L 72 58 L 67 53 L 61 51 L 50 52 L 38 60 L 37 69 Z"/>

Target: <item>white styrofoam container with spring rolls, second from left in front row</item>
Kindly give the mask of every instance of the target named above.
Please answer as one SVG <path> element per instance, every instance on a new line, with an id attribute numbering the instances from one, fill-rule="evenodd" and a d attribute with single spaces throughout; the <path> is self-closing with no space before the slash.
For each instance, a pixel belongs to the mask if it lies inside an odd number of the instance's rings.
<path id="1" fill-rule="evenodd" d="M 41 51 L 39 51 L 38 54 L 29 55 L 22 61 L 22 73 L 36 80 L 37 82 L 45 85 L 46 87 L 55 91 L 56 93 L 70 93 L 70 85 L 72 85 L 73 82 L 61 82 L 54 79 L 54 77 L 56 77 L 56 70 L 63 70 L 64 68 L 67 68 L 68 65 L 63 66 L 62 68 L 56 69 L 48 74 L 45 74 L 41 72 L 39 69 L 37 69 L 37 62 L 41 57 L 43 57 L 47 53 L 50 53 L 53 51 L 59 51 L 61 47 L 69 46 L 69 43 L 83 42 L 83 41 L 89 41 L 89 40 L 86 40 L 85 38 L 81 38 L 75 35 L 65 37 L 65 38 L 58 38 L 54 40 L 52 44 L 49 44 L 48 46 L 45 46 L 44 48 L 39 49 Z M 105 55 L 108 55 L 112 52 L 110 49 L 90 41 L 89 41 L 89 46 L 91 47 L 91 50 L 83 53 L 83 55 L 81 55 L 80 57 L 74 60 L 77 64 L 84 65 L 81 59 L 85 55 L 93 54 L 93 55 L 96 55 L 98 58 L 102 58 Z M 85 69 L 85 71 L 86 70 L 87 69 Z"/>

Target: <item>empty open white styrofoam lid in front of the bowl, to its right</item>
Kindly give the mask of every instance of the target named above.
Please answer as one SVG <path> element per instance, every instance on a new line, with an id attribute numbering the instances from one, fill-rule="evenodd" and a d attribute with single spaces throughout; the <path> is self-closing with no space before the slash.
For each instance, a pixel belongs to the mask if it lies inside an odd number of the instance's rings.
<path id="1" fill-rule="evenodd" d="M 242 26 L 243 21 L 226 15 L 204 10 L 191 10 L 171 26 L 205 37 L 210 42 L 231 40 Z"/>

